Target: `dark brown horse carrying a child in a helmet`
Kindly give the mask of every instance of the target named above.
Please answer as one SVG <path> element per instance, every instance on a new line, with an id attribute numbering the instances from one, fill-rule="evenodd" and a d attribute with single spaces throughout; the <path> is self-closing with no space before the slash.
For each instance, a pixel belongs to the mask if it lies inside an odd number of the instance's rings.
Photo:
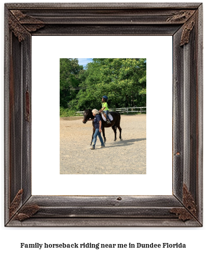
<path id="1" fill-rule="evenodd" d="M 100 113 L 100 117 L 101 117 L 101 121 L 102 121 L 102 132 L 103 132 L 103 137 L 104 137 L 104 143 L 106 143 L 106 137 L 105 137 L 105 128 L 108 127 L 112 127 L 113 131 L 114 131 L 114 141 L 116 141 L 116 129 L 119 129 L 119 138 L 120 140 L 122 140 L 121 138 L 121 127 L 120 127 L 120 121 L 121 121 L 121 116 L 120 113 L 118 112 L 111 112 L 111 115 L 113 117 L 113 120 L 111 121 L 111 124 L 108 124 L 106 121 L 103 120 L 102 118 L 102 114 Z M 84 120 L 82 120 L 83 123 L 86 123 L 89 119 L 94 119 L 94 116 L 92 114 L 92 110 L 91 109 L 86 109 L 84 111 Z M 95 133 L 95 127 L 94 127 L 94 121 L 92 122 L 93 125 L 93 134 L 92 134 L 92 139 L 91 139 L 91 144 L 92 145 L 92 141 L 93 141 L 93 135 Z"/>

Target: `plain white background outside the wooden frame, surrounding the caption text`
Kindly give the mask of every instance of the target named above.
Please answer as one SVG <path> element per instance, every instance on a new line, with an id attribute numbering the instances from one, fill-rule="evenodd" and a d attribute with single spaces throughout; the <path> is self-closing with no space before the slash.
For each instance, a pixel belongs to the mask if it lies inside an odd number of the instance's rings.
<path id="1" fill-rule="evenodd" d="M 7 1 L 7 2 L 19 2 L 19 1 Z M 30 1 L 27 1 L 30 2 Z M 32 1 L 36 2 L 36 1 Z M 39 2 L 39 1 L 38 1 Z M 51 1 L 45 1 L 45 2 L 51 2 Z M 61 1 L 65 2 L 65 1 Z M 76 2 L 75 0 L 73 2 Z M 81 2 L 80 0 L 78 2 Z M 85 2 L 85 1 L 83 1 Z M 93 2 L 92 0 L 90 2 Z M 96 0 L 95 2 L 98 2 Z M 104 2 L 104 1 L 102 1 Z M 107 0 L 109 2 L 109 0 Z M 115 1 L 113 2 L 125 2 L 125 1 Z M 133 1 L 130 1 L 133 2 Z M 148 2 L 154 2 L 154 1 L 148 1 Z M 159 1 L 159 2 L 169 2 L 169 1 Z M 175 1 L 176 2 L 176 1 Z M 180 1 L 178 1 L 180 2 Z M 187 2 L 200 2 L 200 1 L 187 1 Z M 3 38 L 4 38 L 4 6 L 3 2 L 1 3 L 1 82 L 3 85 L 3 56 L 4 56 L 4 47 L 3 47 Z M 206 7 L 204 4 L 204 29 L 206 25 Z M 204 45 L 206 41 L 206 35 L 204 35 Z M 64 56 L 63 56 L 64 57 Z M 82 57 L 82 56 L 81 56 Z M 205 68 L 205 59 L 206 59 L 206 52 L 204 48 L 204 70 Z M 205 75 L 205 74 L 204 74 Z M 204 85 L 205 85 L 205 77 L 204 76 Z M 3 117 L 4 109 L 3 109 L 3 86 L 1 88 L 1 114 Z M 206 90 L 204 86 L 204 117 L 206 116 Z M 1 139 L 2 139 L 2 146 L 1 146 L 1 156 L 2 156 L 2 173 L 1 173 L 1 253 L 4 254 L 15 254 L 15 255 L 45 255 L 47 252 L 50 253 L 50 255 L 57 255 L 57 253 L 60 253 L 61 255 L 105 255 L 106 253 L 108 255 L 114 255 L 116 253 L 119 253 L 119 255 L 126 255 L 130 253 L 130 255 L 150 255 L 153 253 L 154 255 L 195 255 L 195 254 L 201 254 L 205 255 L 206 253 L 206 189 L 204 186 L 204 222 L 202 228 L 5 228 L 4 227 L 4 175 L 3 175 L 3 169 L 4 169 L 4 155 L 3 155 L 3 141 L 4 141 L 4 131 L 3 131 L 3 118 L 2 118 L 2 124 L 1 124 Z M 206 130 L 206 118 L 204 119 L 204 131 Z M 204 185 L 206 184 L 206 136 L 204 134 Z M 136 242 L 141 243 L 162 243 L 162 242 L 182 242 L 186 244 L 186 249 L 105 249 L 105 250 L 95 250 L 95 249 L 85 249 L 85 250 L 77 250 L 77 249 L 20 249 L 20 242 L 25 242 L 28 244 L 32 244 L 35 242 L 44 244 L 44 242 L 48 244 L 57 244 L 57 243 L 72 243 L 77 242 L 78 244 L 82 242 L 101 242 L 101 243 L 122 243 L 122 244 L 128 244 L 129 242 L 136 244 Z"/>

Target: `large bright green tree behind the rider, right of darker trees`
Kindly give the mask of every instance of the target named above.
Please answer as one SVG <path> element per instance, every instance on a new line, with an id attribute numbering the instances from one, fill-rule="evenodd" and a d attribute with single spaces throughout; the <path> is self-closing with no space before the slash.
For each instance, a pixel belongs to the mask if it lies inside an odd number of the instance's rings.
<path id="1" fill-rule="evenodd" d="M 96 59 L 88 63 L 84 81 L 72 105 L 100 108 L 107 95 L 109 107 L 146 106 L 146 59 Z"/>

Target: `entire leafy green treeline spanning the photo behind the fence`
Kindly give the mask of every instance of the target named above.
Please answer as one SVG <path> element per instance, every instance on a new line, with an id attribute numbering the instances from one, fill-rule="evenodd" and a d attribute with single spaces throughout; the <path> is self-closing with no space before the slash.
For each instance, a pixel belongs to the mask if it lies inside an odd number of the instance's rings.
<path id="1" fill-rule="evenodd" d="M 84 69 L 78 59 L 60 59 L 62 110 L 100 109 L 103 95 L 109 108 L 146 106 L 146 59 L 92 60 Z"/>

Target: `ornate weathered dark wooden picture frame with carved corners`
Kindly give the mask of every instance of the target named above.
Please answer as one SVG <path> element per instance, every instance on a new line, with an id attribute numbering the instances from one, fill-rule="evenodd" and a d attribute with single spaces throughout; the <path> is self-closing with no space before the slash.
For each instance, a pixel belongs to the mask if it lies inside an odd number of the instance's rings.
<path id="1" fill-rule="evenodd" d="M 31 38 L 173 38 L 171 196 L 31 195 Z M 5 4 L 5 226 L 202 226 L 202 4 Z"/>

